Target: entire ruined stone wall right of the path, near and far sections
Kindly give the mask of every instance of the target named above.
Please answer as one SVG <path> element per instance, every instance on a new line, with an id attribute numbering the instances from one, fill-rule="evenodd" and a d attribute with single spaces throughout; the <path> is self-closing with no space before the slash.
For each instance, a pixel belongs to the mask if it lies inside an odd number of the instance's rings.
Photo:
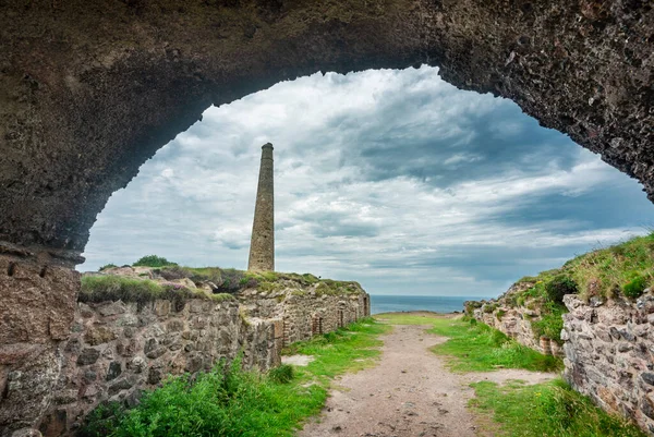
<path id="1" fill-rule="evenodd" d="M 526 286 L 524 286 L 526 287 Z M 562 355 L 564 377 L 602 409 L 634 421 L 654 436 L 654 294 L 645 290 L 635 302 L 626 299 L 584 302 L 564 299 L 562 348 L 538 339 L 531 323 L 537 309 L 511 306 L 513 286 L 497 300 L 467 302 L 467 313 L 520 343 Z"/>

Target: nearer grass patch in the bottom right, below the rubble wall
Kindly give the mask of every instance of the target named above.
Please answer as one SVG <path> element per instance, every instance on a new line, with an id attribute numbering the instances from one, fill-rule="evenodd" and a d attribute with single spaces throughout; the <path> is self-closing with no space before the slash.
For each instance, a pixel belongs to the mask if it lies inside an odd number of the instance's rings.
<path id="1" fill-rule="evenodd" d="M 640 429 L 600 410 L 561 379 L 533 386 L 511 381 L 504 386 L 482 381 L 471 385 L 475 413 L 482 428 L 505 437 L 644 437 Z"/>

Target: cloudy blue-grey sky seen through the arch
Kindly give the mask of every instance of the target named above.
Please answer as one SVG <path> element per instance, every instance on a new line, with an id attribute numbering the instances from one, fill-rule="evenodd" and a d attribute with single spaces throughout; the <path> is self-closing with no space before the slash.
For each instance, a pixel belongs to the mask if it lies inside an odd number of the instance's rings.
<path id="1" fill-rule="evenodd" d="M 86 263 L 244 269 L 275 145 L 276 267 L 373 294 L 491 296 L 654 227 L 641 186 L 438 70 L 314 74 L 211 107 L 113 194 Z"/>

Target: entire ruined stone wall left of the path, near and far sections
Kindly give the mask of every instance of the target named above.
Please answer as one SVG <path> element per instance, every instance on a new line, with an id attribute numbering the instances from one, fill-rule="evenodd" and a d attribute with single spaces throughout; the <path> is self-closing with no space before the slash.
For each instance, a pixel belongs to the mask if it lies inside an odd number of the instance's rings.
<path id="1" fill-rule="evenodd" d="M 370 314 L 370 296 L 354 282 L 342 282 L 338 292 L 324 292 L 322 282 L 279 286 L 178 307 L 169 300 L 78 303 L 41 433 L 74 434 L 100 402 L 133 405 L 167 375 L 207 371 L 240 351 L 246 368 L 268 369 L 279 364 L 284 344 Z"/>

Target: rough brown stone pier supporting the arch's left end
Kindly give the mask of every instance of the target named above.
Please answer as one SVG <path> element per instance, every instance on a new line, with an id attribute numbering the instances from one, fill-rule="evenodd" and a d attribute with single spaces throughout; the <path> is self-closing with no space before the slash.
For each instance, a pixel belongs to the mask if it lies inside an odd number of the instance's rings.
<path id="1" fill-rule="evenodd" d="M 80 275 L 48 263 L 0 254 L 0 436 L 29 428 L 59 377 Z"/>

